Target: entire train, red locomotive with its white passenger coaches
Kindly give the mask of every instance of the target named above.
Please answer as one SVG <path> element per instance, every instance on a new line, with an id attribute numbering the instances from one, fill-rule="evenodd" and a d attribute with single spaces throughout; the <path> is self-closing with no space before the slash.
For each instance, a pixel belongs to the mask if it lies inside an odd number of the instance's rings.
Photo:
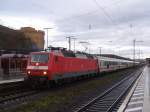
<path id="1" fill-rule="evenodd" d="M 138 64 L 138 62 L 136 62 Z M 27 80 L 38 82 L 59 81 L 69 78 L 100 75 L 132 67 L 133 61 L 91 55 L 83 52 L 51 47 L 32 52 L 27 64 Z"/>

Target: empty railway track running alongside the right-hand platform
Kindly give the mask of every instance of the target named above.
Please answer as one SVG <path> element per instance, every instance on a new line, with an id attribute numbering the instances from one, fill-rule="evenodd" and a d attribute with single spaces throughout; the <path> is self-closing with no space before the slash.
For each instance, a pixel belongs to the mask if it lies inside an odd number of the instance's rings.
<path id="1" fill-rule="evenodd" d="M 116 112 L 142 69 L 132 73 L 88 103 L 82 104 L 74 112 Z"/>

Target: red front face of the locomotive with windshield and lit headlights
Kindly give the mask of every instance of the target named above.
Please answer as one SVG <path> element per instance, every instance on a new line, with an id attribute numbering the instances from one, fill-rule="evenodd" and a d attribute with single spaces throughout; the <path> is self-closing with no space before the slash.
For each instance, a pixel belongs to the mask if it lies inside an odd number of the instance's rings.
<path id="1" fill-rule="evenodd" d="M 50 53 L 47 52 L 31 53 L 27 66 L 28 79 L 40 81 L 47 80 L 49 73 L 48 70 L 49 60 L 50 60 Z"/>

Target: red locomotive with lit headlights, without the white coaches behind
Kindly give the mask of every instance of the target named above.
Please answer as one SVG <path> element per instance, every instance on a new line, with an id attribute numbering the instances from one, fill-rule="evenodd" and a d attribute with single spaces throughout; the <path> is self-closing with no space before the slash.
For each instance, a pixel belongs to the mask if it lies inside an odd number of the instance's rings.
<path id="1" fill-rule="evenodd" d="M 59 80 L 97 74 L 97 59 L 92 55 L 73 53 L 65 48 L 53 48 L 45 52 L 31 53 L 27 75 L 30 80 Z"/>

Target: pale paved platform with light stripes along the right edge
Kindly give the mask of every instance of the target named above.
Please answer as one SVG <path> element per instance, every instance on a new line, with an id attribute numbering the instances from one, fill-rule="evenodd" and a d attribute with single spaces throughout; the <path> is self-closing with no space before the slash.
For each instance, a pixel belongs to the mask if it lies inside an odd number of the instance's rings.
<path id="1" fill-rule="evenodd" d="M 150 112 L 150 67 L 143 69 L 118 112 Z"/>

